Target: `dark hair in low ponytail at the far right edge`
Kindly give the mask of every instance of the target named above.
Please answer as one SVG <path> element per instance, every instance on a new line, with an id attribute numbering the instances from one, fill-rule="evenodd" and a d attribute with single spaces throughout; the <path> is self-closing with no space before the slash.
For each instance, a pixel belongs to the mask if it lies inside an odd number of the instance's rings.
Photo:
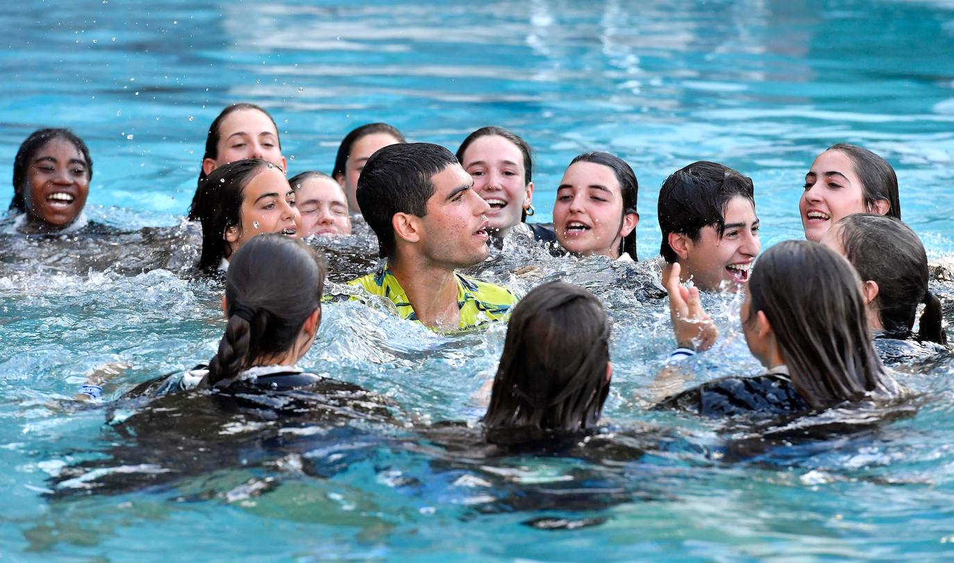
<path id="1" fill-rule="evenodd" d="M 927 289 L 927 254 L 918 235 L 900 220 L 874 213 L 843 217 L 841 247 L 862 281 L 878 284 L 874 306 L 884 331 L 907 338 L 924 304 L 918 340 L 947 343 L 941 301 Z"/>

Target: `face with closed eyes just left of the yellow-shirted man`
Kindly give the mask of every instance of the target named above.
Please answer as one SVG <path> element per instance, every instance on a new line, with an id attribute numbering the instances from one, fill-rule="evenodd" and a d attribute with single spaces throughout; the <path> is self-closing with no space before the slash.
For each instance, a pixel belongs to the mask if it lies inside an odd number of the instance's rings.
<path id="1" fill-rule="evenodd" d="M 296 187 L 295 195 L 301 212 L 301 236 L 351 234 L 348 200 L 338 182 L 312 176 Z"/>

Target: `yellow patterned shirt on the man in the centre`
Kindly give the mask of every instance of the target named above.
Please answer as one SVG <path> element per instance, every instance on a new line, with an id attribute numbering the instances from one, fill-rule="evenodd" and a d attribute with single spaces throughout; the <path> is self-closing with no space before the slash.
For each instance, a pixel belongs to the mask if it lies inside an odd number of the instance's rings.
<path id="1" fill-rule="evenodd" d="M 461 275 L 454 272 L 457 281 L 457 307 L 461 310 L 460 330 L 480 325 L 506 321 L 517 303 L 517 298 L 507 288 Z M 378 271 L 348 282 L 349 286 L 361 287 L 372 295 L 387 297 L 398 308 L 401 318 L 421 322 L 411 307 L 398 278 L 385 264 Z"/>

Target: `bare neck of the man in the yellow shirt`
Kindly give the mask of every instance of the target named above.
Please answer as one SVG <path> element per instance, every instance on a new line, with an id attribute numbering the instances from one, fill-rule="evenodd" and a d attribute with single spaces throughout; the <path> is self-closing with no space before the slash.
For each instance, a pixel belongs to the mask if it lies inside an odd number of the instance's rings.
<path id="1" fill-rule="evenodd" d="M 387 267 L 398 279 L 407 301 L 425 327 L 457 330 L 461 310 L 457 305 L 453 268 L 400 251 L 388 258 Z"/>

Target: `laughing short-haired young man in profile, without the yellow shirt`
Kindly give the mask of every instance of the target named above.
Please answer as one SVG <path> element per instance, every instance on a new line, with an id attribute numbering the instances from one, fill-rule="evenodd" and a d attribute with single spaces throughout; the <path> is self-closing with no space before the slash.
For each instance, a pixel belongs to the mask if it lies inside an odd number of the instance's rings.
<path id="1" fill-rule="evenodd" d="M 738 290 L 761 250 L 752 179 L 715 162 L 695 162 L 666 178 L 659 190 L 659 250 L 678 262 L 683 282 L 700 290 Z"/>

